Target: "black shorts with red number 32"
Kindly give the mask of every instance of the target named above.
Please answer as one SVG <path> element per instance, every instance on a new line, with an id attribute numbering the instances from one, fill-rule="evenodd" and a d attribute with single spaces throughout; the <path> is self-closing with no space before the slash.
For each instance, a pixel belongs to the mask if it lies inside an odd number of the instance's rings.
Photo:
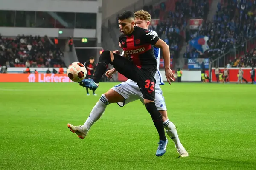
<path id="1" fill-rule="evenodd" d="M 116 70 L 128 79 L 137 82 L 144 99 L 154 101 L 156 84 L 154 75 L 156 74 L 157 68 L 152 66 L 151 68 L 140 69 L 125 57 L 118 54 L 114 54 L 114 57 L 115 59 L 111 64 Z"/>

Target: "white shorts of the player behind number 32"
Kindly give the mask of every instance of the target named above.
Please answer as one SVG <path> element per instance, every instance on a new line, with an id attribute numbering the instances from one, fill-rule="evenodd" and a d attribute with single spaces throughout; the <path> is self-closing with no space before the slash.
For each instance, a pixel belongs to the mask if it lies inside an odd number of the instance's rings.
<path id="1" fill-rule="evenodd" d="M 125 98 L 125 101 L 117 103 L 120 107 L 123 107 L 124 105 L 130 102 L 133 102 L 135 100 L 140 100 L 144 105 L 143 95 L 137 83 L 134 81 L 128 80 L 126 82 L 122 82 L 121 84 L 115 85 L 111 89 L 113 89 L 114 91 L 116 91 L 117 93 L 119 93 L 121 96 Z M 157 110 L 159 111 L 167 110 L 162 89 L 160 88 L 159 85 L 156 85 L 155 89 L 156 89 L 155 104 L 156 104 Z"/>

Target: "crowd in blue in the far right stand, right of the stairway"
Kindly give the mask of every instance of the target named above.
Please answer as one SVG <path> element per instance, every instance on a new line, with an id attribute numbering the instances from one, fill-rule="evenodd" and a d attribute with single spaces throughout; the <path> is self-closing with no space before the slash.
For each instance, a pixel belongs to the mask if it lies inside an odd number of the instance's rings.
<path id="1" fill-rule="evenodd" d="M 212 21 L 203 23 L 198 30 L 186 32 L 186 42 L 204 35 L 209 37 L 208 45 L 211 50 L 219 49 L 216 56 L 228 52 L 235 54 L 235 51 L 243 51 L 244 54 L 246 51 L 244 42 L 256 36 L 255 9 L 256 0 L 223 0 L 222 3 L 218 3 Z M 199 53 L 188 45 L 184 57 L 198 56 Z"/>

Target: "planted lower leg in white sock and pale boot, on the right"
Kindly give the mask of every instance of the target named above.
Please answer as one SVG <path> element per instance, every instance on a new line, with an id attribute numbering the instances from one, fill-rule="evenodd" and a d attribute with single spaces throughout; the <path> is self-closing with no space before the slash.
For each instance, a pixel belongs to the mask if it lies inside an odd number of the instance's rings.
<path id="1" fill-rule="evenodd" d="M 175 125 L 171 121 L 169 121 L 169 119 L 167 119 L 163 122 L 163 127 L 166 129 L 167 135 L 174 142 L 177 152 L 180 154 L 180 157 L 188 157 L 189 153 L 181 144 Z"/>

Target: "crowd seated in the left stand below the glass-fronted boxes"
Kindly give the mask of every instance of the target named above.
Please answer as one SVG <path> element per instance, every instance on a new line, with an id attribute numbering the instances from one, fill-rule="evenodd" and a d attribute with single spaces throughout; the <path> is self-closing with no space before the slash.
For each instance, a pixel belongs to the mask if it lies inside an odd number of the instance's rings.
<path id="1" fill-rule="evenodd" d="M 63 53 L 48 37 L 18 35 L 4 38 L 0 34 L 0 65 L 7 67 L 64 67 Z"/>

